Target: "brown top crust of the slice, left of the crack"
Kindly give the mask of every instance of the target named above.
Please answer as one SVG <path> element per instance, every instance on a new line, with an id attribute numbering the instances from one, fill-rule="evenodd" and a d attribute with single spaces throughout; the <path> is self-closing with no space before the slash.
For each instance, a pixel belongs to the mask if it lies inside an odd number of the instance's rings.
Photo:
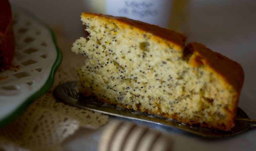
<path id="1" fill-rule="evenodd" d="M 100 20 L 107 20 L 108 22 L 115 22 L 115 23 L 119 23 L 120 25 L 129 25 L 134 29 L 151 33 L 155 37 L 159 37 L 156 40 L 165 40 L 166 43 L 171 43 L 171 44 L 174 43 L 176 44 L 176 46 L 180 47 L 180 50 L 183 50 L 185 46 L 184 42 L 187 39 L 187 37 L 181 33 L 178 33 L 166 28 L 161 28 L 157 25 L 149 25 L 141 21 L 131 20 L 124 17 L 114 17 L 110 15 L 93 14 L 88 12 L 82 13 L 81 17 L 85 19 L 96 17 L 96 18 L 99 18 Z"/>

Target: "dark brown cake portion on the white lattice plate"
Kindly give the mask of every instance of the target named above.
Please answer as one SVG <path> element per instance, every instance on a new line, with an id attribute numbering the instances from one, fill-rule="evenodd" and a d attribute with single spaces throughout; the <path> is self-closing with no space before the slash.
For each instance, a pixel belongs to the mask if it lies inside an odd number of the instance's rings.
<path id="1" fill-rule="evenodd" d="M 0 72 L 10 68 L 14 50 L 11 5 L 8 0 L 0 0 Z"/>

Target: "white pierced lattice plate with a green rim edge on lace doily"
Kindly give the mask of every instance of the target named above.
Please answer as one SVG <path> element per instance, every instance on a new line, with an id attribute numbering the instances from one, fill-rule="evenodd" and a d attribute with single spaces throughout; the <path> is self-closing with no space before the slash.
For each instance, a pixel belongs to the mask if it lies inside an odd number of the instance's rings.
<path id="1" fill-rule="evenodd" d="M 30 12 L 13 8 L 16 50 L 12 65 L 0 73 L 0 127 L 8 124 L 53 85 L 62 53 L 52 30 Z"/>

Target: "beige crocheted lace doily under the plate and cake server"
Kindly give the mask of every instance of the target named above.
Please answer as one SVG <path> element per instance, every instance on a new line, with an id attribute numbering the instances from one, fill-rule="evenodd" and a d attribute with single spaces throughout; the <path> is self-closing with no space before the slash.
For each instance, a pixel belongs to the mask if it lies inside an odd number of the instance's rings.
<path id="1" fill-rule="evenodd" d="M 54 85 L 16 120 L 0 129 L 0 150 L 61 151 L 64 139 L 79 127 L 95 129 L 108 122 L 106 115 L 72 107 L 55 99 L 53 90 L 57 85 L 78 80 L 75 67 L 79 67 L 79 63 L 81 66 L 83 60 L 71 52 L 72 41 L 63 38 L 61 28 L 53 29 L 63 52 Z"/>

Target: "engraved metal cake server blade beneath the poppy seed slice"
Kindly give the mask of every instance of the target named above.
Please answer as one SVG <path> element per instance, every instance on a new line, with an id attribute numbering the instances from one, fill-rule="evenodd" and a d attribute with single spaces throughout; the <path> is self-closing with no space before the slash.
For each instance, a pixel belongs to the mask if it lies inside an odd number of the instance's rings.
<path id="1" fill-rule="evenodd" d="M 246 113 L 240 108 L 237 110 L 235 127 L 231 131 L 217 131 L 208 128 L 188 126 L 184 123 L 178 122 L 177 120 L 168 119 L 156 114 L 123 109 L 112 104 L 100 102 L 88 97 L 83 97 L 79 95 L 78 87 L 79 86 L 77 85 L 77 81 L 62 83 L 56 87 L 54 90 L 54 95 L 58 100 L 78 108 L 130 120 L 139 120 L 157 125 L 174 127 L 204 137 L 230 136 L 256 127 L 256 120 L 249 119 Z"/>

